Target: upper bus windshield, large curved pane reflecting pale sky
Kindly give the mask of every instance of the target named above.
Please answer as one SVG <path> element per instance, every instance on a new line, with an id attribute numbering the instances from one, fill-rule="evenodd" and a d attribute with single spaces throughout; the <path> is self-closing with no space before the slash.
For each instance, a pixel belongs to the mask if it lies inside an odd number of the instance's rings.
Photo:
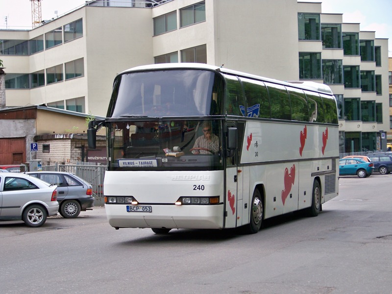
<path id="1" fill-rule="evenodd" d="M 107 117 L 216 115 L 223 78 L 205 70 L 155 70 L 116 77 Z"/>

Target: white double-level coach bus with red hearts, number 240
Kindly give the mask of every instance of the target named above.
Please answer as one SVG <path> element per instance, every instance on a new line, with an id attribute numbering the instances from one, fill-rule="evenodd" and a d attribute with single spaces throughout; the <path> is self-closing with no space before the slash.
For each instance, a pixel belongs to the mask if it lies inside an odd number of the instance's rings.
<path id="1" fill-rule="evenodd" d="M 338 195 L 336 99 L 326 85 L 206 64 L 120 73 L 106 127 L 107 219 L 119 228 L 256 233 L 265 219 L 317 216 Z"/>

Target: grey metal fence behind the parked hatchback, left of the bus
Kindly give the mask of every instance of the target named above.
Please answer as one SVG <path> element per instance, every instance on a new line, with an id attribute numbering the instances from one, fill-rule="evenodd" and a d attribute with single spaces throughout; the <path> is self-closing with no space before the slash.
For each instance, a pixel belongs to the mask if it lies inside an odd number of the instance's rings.
<path id="1" fill-rule="evenodd" d="M 86 162 L 72 164 L 55 164 L 51 166 L 43 166 L 43 171 L 48 172 L 70 172 L 82 178 L 93 186 L 93 194 L 95 197 L 95 206 L 103 206 L 103 178 L 107 170 L 106 166 L 91 165 Z"/>

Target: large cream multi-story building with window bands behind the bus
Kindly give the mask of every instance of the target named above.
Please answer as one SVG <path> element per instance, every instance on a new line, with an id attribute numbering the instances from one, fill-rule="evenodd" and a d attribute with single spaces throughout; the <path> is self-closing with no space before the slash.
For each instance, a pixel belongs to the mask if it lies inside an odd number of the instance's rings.
<path id="1" fill-rule="evenodd" d="M 6 105 L 104 116 L 117 73 L 201 62 L 326 83 L 338 100 L 341 152 L 380 148 L 390 128 L 388 40 L 375 32 L 296 0 L 124 2 L 88 1 L 31 30 L 0 30 Z"/>

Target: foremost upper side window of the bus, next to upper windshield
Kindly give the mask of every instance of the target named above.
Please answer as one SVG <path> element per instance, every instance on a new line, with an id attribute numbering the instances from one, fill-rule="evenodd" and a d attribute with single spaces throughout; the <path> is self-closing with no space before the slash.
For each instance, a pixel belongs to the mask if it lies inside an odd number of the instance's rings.
<path id="1" fill-rule="evenodd" d="M 226 77 L 226 105 L 225 110 L 229 115 L 244 116 L 241 106 L 246 107 L 241 83 L 236 76 Z"/>

